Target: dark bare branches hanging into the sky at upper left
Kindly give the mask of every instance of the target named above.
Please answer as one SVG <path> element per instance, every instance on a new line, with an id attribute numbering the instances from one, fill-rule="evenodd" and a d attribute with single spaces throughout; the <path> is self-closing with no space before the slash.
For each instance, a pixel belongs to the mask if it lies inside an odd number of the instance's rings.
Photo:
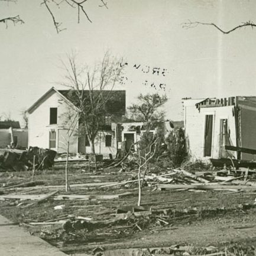
<path id="1" fill-rule="evenodd" d="M 0 0 L 2 2 L 12 2 L 12 3 L 17 3 L 18 0 Z M 61 28 L 62 22 L 57 21 L 56 15 L 53 11 L 54 8 L 61 9 L 63 8 L 70 8 L 73 10 L 76 10 L 77 12 L 77 22 L 80 22 L 80 16 L 83 15 L 86 20 L 89 22 L 92 22 L 90 20 L 90 17 L 88 15 L 88 12 L 86 11 L 86 2 L 88 0 L 43 0 L 41 2 L 41 5 L 44 5 L 46 7 L 48 14 L 50 15 L 51 19 L 53 20 L 54 27 L 57 31 L 57 33 L 60 33 L 63 30 L 66 30 L 66 28 Z M 104 0 L 98 0 L 98 7 L 105 7 L 108 9 L 107 2 Z M 12 22 L 12 24 L 24 24 L 24 20 L 20 18 L 20 15 L 15 15 L 13 17 L 5 17 L 5 18 L 0 18 L 0 23 L 3 22 L 5 25 L 8 27 L 8 23 Z"/>

